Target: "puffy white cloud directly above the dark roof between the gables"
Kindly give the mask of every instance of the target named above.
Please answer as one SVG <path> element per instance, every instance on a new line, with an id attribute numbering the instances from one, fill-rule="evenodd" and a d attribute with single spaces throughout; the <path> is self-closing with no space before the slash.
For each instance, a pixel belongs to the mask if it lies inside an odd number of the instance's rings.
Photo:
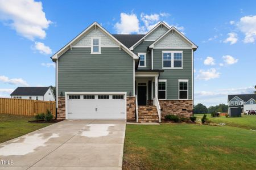
<path id="1" fill-rule="evenodd" d="M 139 19 L 135 14 L 120 14 L 121 21 L 120 23 L 115 23 L 114 27 L 117 30 L 117 33 L 129 34 L 139 32 Z"/>

